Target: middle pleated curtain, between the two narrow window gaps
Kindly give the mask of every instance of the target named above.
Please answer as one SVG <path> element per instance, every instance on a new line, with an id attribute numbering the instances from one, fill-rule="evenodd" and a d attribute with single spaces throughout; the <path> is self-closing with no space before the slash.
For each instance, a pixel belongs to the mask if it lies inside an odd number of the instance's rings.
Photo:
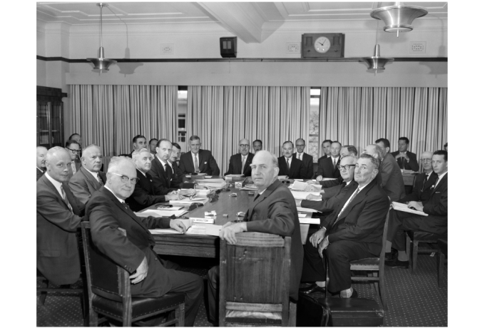
<path id="1" fill-rule="evenodd" d="M 262 140 L 280 156 L 282 142 L 307 138 L 310 88 L 265 86 L 189 86 L 188 136 L 198 135 L 213 152 L 221 173 L 238 153 L 242 138 Z"/>

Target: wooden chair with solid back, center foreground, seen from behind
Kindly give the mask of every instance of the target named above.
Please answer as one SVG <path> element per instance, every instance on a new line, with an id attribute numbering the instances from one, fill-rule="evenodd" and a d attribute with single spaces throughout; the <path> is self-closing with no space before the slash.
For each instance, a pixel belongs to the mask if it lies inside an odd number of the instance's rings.
<path id="1" fill-rule="evenodd" d="M 291 237 L 259 232 L 220 241 L 219 327 L 296 327 Z"/>

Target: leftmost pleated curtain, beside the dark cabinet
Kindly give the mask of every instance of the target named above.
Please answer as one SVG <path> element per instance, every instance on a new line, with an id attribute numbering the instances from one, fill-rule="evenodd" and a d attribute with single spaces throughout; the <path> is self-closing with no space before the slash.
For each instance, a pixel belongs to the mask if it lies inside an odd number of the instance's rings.
<path id="1" fill-rule="evenodd" d="M 72 133 L 104 155 L 130 153 L 135 135 L 177 136 L 177 86 L 71 85 Z"/>

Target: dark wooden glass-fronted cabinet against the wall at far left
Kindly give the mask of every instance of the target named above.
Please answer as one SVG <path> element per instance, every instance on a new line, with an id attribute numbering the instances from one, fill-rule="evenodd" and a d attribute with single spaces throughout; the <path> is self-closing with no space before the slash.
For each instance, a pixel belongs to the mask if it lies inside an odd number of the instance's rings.
<path id="1" fill-rule="evenodd" d="M 60 88 L 37 86 L 37 145 L 64 146 L 64 113 Z"/>

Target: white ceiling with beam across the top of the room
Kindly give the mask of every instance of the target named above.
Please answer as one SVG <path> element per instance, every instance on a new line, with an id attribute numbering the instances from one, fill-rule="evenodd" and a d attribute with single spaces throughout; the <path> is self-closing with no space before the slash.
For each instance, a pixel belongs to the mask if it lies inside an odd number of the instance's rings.
<path id="1" fill-rule="evenodd" d="M 68 25 L 99 24 L 95 1 L 36 1 L 37 19 Z M 377 1 L 106 1 L 103 24 L 219 24 L 247 43 L 292 22 L 337 21 L 352 26 L 370 17 Z M 416 1 L 429 14 L 420 20 L 447 19 L 448 1 Z M 114 14 L 113 14 L 114 13 Z M 116 15 L 115 15 L 116 14 Z M 123 21 L 122 21 L 123 20 Z M 357 26 L 357 25 L 356 25 Z M 264 33 L 263 33 L 264 31 Z"/>

